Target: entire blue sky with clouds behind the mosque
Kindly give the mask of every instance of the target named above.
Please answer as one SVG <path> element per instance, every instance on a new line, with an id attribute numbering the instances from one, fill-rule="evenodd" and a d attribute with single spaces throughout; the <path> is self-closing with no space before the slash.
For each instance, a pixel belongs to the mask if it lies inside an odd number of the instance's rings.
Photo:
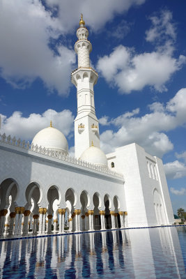
<path id="1" fill-rule="evenodd" d="M 52 119 L 74 146 L 80 13 L 99 73 L 105 153 L 137 142 L 164 162 L 173 211 L 186 210 L 185 1 L 0 0 L 1 133 L 32 140 Z"/>

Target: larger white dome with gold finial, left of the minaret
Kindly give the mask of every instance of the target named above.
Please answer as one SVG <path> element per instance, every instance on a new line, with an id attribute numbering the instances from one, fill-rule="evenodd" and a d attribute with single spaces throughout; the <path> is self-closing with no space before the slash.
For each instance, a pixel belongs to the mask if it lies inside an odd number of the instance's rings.
<path id="1" fill-rule="evenodd" d="M 54 127 L 47 127 L 40 130 L 35 137 L 33 137 L 32 143 L 34 145 L 38 144 L 38 147 L 42 146 L 54 151 L 59 151 L 68 154 L 68 142 L 60 132 Z"/>

